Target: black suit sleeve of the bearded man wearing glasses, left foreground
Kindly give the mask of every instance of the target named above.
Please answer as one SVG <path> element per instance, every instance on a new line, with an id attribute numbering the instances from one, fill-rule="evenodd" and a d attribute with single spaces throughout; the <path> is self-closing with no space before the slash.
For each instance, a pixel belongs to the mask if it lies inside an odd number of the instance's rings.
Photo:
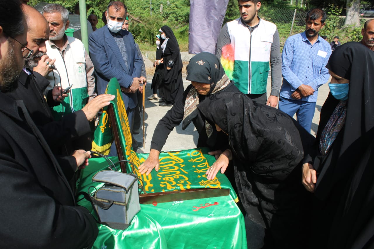
<path id="1" fill-rule="evenodd" d="M 40 184 L 39 176 L 13 159 L 10 145 L 0 140 L 1 247 L 91 246 L 98 234 L 91 213 L 84 207 L 61 205 L 53 199 Z"/>

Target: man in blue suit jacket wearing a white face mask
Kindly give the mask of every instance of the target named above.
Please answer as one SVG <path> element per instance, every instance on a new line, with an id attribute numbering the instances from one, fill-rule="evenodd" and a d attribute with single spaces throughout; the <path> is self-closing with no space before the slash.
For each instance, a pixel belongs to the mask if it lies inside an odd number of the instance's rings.
<path id="1" fill-rule="evenodd" d="M 108 23 L 89 36 L 89 52 L 97 76 L 97 92 L 103 94 L 109 80 L 117 78 L 132 130 L 134 108 L 138 104 L 137 90 L 142 92 L 141 67 L 143 59 L 138 56 L 134 37 L 122 30 L 127 8 L 119 1 L 109 3 L 105 15 Z"/>

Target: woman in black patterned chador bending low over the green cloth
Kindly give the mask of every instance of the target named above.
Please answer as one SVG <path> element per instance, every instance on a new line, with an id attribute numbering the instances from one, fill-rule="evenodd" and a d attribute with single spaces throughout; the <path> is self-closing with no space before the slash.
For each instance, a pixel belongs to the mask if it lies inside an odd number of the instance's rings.
<path id="1" fill-rule="evenodd" d="M 239 200 L 249 219 L 266 228 L 264 248 L 303 248 L 309 194 L 300 182 L 301 160 L 314 138 L 287 114 L 241 92 L 211 95 L 197 108 L 229 137 Z M 226 168 L 214 163 L 207 178 Z"/>

